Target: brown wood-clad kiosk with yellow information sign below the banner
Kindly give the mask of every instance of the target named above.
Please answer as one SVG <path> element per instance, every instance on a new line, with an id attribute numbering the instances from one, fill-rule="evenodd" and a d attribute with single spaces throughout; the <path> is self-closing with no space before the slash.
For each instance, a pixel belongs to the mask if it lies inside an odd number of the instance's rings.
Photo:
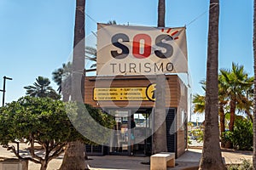
<path id="1" fill-rule="evenodd" d="M 148 156 L 154 133 L 156 76 L 86 77 L 84 102 L 115 118 L 115 131 L 108 147 L 87 146 L 87 151 L 109 155 Z M 167 149 L 181 156 L 187 147 L 187 88 L 177 75 L 166 76 Z M 134 120 L 135 127 L 131 129 Z M 160 139 L 161 140 L 161 139 Z M 133 144 L 133 146 L 131 146 Z M 97 149 L 97 150 L 96 150 Z M 94 153 L 95 154 L 95 153 Z"/>

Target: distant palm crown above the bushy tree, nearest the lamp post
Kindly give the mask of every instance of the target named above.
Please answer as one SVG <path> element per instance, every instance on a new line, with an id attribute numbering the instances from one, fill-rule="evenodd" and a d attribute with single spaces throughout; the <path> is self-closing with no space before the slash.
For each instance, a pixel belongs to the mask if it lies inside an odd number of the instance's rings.
<path id="1" fill-rule="evenodd" d="M 26 86 L 24 88 L 26 89 L 26 94 L 32 97 L 60 99 L 60 95 L 49 84 L 49 78 L 38 77 L 32 86 Z"/>

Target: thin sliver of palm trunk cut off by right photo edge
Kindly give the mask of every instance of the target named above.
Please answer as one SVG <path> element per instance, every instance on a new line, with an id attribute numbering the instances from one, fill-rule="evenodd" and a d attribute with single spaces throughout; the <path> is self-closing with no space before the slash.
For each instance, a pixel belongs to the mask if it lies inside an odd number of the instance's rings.
<path id="1" fill-rule="evenodd" d="M 254 61 L 254 88 L 253 100 L 256 101 L 256 1 L 253 1 L 253 61 Z M 253 102 L 253 169 L 256 169 L 256 102 Z"/>

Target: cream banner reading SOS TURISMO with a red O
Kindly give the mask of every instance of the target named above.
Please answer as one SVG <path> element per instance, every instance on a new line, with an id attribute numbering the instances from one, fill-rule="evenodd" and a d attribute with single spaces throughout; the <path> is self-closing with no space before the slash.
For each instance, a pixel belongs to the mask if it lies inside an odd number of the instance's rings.
<path id="1" fill-rule="evenodd" d="M 188 71 L 185 27 L 98 24 L 96 74 L 154 75 Z"/>

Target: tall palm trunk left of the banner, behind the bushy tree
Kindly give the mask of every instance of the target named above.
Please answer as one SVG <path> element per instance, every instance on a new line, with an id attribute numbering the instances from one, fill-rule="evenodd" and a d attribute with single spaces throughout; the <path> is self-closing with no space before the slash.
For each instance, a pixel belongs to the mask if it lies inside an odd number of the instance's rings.
<path id="1" fill-rule="evenodd" d="M 85 0 L 76 0 L 76 15 L 73 41 L 73 73 L 71 99 L 78 103 L 84 103 L 84 9 Z M 82 86 L 83 84 L 83 86 Z M 84 160 L 84 143 L 77 140 L 67 144 L 67 150 L 61 164 L 61 170 L 88 169 Z"/>

